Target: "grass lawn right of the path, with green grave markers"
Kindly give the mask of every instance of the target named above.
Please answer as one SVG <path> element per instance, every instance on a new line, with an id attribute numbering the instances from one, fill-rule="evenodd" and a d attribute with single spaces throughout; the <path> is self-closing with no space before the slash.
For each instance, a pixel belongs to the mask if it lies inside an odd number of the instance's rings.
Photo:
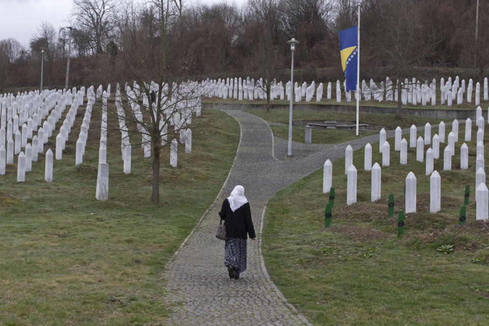
<path id="1" fill-rule="evenodd" d="M 465 123 L 460 123 L 453 170 L 443 171 L 443 154 L 434 162 L 442 178 L 442 210 L 437 213 L 429 213 L 425 162 L 417 162 L 415 149 L 409 149 L 408 165 L 399 165 L 393 138 L 391 166 L 382 167 L 382 198 L 374 203 L 370 172 L 363 170 L 363 149 L 354 152 L 358 202 L 350 206 L 344 158 L 333 161 L 332 227 L 324 228 L 328 195 L 321 192 L 322 169 L 268 201 L 263 233 L 268 273 L 313 324 L 487 324 L 489 223 L 475 221 L 474 125 L 473 141 L 467 143 L 469 169 L 459 169 L 464 129 Z M 447 134 L 450 130 L 447 127 Z M 441 153 L 445 146 L 441 144 Z M 382 162 L 378 143 L 372 145 L 372 154 L 372 163 Z M 410 171 L 417 177 L 417 212 L 406 214 L 404 235 L 397 237 L 396 217 L 388 218 L 387 197 L 395 195 L 397 216 L 404 208 L 404 180 Z M 471 186 L 471 197 L 467 223 L 460 226 L 458 212 L 466 184 Z"/>

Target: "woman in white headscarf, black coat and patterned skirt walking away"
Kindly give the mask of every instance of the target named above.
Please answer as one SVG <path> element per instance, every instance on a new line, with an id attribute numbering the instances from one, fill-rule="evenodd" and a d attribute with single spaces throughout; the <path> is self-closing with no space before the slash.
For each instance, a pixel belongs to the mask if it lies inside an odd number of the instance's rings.
<path id="1" fill-rule="evenodd" d="M 246 270 L 247 233 L 252 240 L 256 239 L 250 203 L 244 197 L 243 186 L 234 187 L 231 196 L 224 200 L 219 216 L 225 221 L 226 236 L 229 238 L 224 246 L 224 264 L 229 277 L 237 280 L 239 273 Z"/>

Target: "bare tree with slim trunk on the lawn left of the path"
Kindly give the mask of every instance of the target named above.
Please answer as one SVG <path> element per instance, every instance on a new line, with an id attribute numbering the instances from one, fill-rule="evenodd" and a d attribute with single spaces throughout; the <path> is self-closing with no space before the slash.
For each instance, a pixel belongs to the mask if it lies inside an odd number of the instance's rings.
<path id="1" fill-rule="evenodd" d="M 182 82 L 167 74 L 169 62 L 166 60 L 166 40 L 174 8 L 166 0 L 154 0 L 149 6 L 154 13 L 151 15 L 154 17 L 152 23 L 148 24 L 144 19 L 148 18 L 148 7 L 133 4 L 128 4 L 119 20 L 121 52 L 118 60 L 122 62 L 120 66 L 125 70 L 127 80 L 131 81 L 124 88 L 130 106 L 124 107 L 116 99 L 116 107 L 112 108 L 112 112 L 117 114 L 118 124 L 112 128 L 128 137 L 131 134 L 135 137 L 141 135 L 140 144 L 151 144 L 151 201 L 158 203 L 161 149 L 172 144 L 174 139 L 182 140 L 186 137 L 186 124 L 200 104 L 203 88 L 199 83 Z M 154 33 L 148 33 L 148 29 Z M 136 127 L 131 130 L 128 125 Z M 198 122 L 192 122 L 193 129 L 198 125 Z"/>

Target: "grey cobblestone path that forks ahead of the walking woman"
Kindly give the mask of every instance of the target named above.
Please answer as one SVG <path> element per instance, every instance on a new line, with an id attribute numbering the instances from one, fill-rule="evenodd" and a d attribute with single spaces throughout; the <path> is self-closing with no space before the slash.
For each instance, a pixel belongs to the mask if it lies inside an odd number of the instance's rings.
<path id="1" fill-rule="evenodd" d="M 298 154 L 293 160 L 280 160 L 274 155 L 274 137 L 265 121 L 241 111 L 229 111 L 228 114 L 241 127 L 236 159 L 215 204 L 162 272 L 163 286 L 168 293 L 165 300 L 172 309 L 166 324 L 310 325 L 286 302 L 267 274 L 261 255 L 264 206 L 281 188 L 321 168 L 326 159 L 344 156 L 348 144 L 355 150 L 378 141 L 378 134 L 312 155 L 302 150 L 298 153 L 309 156 Z M 393 135 L 393 131 L 387 132 L 387 137 Z M 286 142 L 276 144 L 276 147 L 284 146 L 287 146 Z M 295 144 L 294 148 L 301 147 Z M 313 152 L 317 150 L 316 146 Z M 215 238 L 215 231 L 222 201 L 237 184 L 244 187 L 244 195 L 250 202 L 257 240 L 248 239 L 248 269 L 239 280 L 234 280 L 229 279 L 224 266 L 224 241 Z"/>

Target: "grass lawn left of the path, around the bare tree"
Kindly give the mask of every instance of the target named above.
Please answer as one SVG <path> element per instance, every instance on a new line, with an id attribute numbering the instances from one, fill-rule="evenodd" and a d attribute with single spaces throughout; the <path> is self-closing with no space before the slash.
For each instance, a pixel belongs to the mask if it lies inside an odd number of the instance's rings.
<path id="1" fill-rule="evenodd" d="M 131 139 L 132 169 L 125 175 L 120 133 L 109 130 L 109 200 L 97 201 L 99 101 L 82 165 L 75 167 L 74 149 L 85 106 L 63 159 L 54 161 L 52 183 L 44 182 L 44 155 L 23 183 L 16 182 L 16 165 L 0 176 L 2 325 L 161 324 L 168 314 L 161 269 L 220 191 L 239 125 L 219 111 L 194 117 L 208 123 L 193 130 L 192 154 L 179 145 L 177 168 L 169 165 L 167 147 L 161 154 L 159 205 L 150 202 L 152 160 L 143 158 L 141 139 Z M 54 151 L 62 121 L 44 152 Z"/>

